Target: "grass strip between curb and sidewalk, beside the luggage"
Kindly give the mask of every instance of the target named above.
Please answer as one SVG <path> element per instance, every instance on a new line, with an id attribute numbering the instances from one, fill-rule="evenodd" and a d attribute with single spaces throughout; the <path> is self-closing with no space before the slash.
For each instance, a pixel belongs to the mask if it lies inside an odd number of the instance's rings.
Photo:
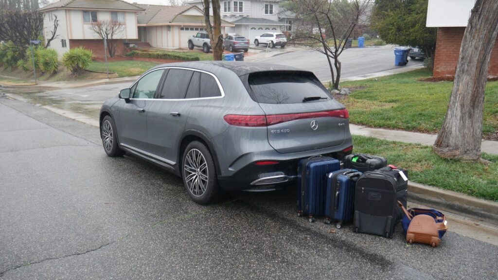
<path id="1" fill-rule="evenodd" d="M 411 181 L 498 201 L 498 156 L 491 164 L 442 159 L 430 146 L 353 136 L 355 152 L 376 154 L 408 170 Z"/>

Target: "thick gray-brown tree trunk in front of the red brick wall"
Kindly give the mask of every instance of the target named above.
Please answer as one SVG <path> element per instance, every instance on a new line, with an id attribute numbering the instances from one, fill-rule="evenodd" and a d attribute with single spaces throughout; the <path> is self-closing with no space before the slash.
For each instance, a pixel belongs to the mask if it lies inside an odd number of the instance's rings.
<path id="1" fill-rule="evenodd" d="M 481 157 L 484 89 L 498 33 L 498 1 L 477 0 L 465 29 L 446 117 L 434 143 L 443 158 Z"/>

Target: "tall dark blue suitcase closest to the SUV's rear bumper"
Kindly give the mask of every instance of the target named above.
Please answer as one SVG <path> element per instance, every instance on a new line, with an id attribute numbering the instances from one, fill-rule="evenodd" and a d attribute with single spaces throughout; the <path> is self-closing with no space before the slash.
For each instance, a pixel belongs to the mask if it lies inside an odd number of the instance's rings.
<path id="1" fill-rule="evenodd" d="M 315 216 L 323 216 L 327 174 L 339 170 L 339 160 L 318 156 L 299 160 L 297 165 L 298 216 L 307 215 L 310 222 Z"/>

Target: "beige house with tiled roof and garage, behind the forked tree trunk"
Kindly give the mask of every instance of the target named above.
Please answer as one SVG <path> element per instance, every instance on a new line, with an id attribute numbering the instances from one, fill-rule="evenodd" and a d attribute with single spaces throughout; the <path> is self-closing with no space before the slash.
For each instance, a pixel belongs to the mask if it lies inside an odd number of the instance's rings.
<path id="1" fill-rule="evenodd" d="M 187 48 L 188 37 L 206 30 L 204 11 L 196 5 L 136 5 L 144 9 L 137 14 L 139 40 L 153 47 Z M 221 26 L 225 33 L 235 25 L 222 19 Z"/>

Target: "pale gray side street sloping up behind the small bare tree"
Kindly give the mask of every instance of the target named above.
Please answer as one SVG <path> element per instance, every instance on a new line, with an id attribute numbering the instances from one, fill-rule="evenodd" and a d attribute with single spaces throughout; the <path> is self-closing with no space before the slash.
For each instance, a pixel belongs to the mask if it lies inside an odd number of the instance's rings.
<path id="1" fill-rule="evenodd" d="M 280 49 L 278 49 L 278 51 L 280 51 Z M 346 49 L 339 56 L 339 60 L 341 61 L 341 78 L 362 76 L 423 64 L 423 61 L 421 60 L 411 60 L 408 58 L 408 64 L 406 66 L 394 66 L 393 46 Z M 288 65 L 312 71 L 320 81 L 332 79 L 325 55 L 315 50 L 296 50 L 258 61 Z"/>

